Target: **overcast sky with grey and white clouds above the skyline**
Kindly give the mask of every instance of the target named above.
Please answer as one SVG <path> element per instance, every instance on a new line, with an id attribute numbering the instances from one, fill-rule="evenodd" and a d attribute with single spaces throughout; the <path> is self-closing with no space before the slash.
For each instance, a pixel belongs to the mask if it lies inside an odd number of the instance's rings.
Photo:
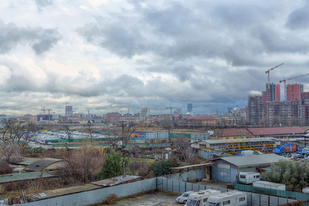
<path id="1" fill-rule="evenodd" d="M 308 2 L 0 0 L 0 113 L 242 108 L 309 73 Z"/>

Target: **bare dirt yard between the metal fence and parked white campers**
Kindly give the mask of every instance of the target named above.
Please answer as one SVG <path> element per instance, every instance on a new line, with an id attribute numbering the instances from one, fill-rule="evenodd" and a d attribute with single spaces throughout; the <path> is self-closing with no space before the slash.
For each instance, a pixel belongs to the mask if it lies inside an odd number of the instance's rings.
<path id="1" fill-rule="evenodd" d="M 182 204 L 176 203 L 178 195 L 168 194 L 165 192 L 156 192 L 155 194 L 140 194 L 132 198 L 126 198 L 121 201 L 117 201 L 114 205 L 117 206 L 130 206 L 130 205 L 160 205 L 160 206 L 182 206 Z"/>

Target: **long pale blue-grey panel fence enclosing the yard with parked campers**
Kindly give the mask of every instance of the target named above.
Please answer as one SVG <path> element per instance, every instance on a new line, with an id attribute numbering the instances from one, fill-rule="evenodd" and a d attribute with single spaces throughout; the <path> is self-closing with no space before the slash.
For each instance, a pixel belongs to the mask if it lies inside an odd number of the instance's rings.
<path id="1" fill-rule="evenodd" d="M 57 198 L 49 198 L 43 201 L 36 201 L 34 203 L 26 203 L 23 206 L 82 206 L 95 203 L 101 203 L 109 194 L 117 194 L 118 197 L 129 196 L 139 192 L 146 192 L 148 190 L 159 189 L 163 191 L 183 193 L 194 190 L 220 190 L 227 192 L 225 188 L 211 187 L 207 185 L 199 185 L 194 183 L 187 183 L 183 181 L 173 181 L 158 177 L 147 179 L 135 183 L 128 183 L 124 185 L 117 185 L 113 187 L 106 187 L 100 190 L 92 190 L 89 192 L 80 192 L 78 194 L 71 194 L 67 196 L 60 196 Z M 295 202 L 286 198 L 279 198 L 275 196 L 266 196 L 261 194 L 247 193 L 247 204 L 251 205 L 284 205 L 284 203 Z"/>

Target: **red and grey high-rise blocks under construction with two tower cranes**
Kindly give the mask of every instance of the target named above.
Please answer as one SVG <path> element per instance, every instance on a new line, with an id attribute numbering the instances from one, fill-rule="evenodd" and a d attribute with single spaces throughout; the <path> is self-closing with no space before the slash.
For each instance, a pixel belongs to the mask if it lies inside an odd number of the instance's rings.
<path id="1" fill-rule="evenodd" d="M 280 100 L 280 84 L 270 82 L 268 75 L 266 91 L 262 95 L 248 97 L 247 122 L 252 126 L 305 126 L 308 123 L 309 92 L 304 92 L 303 84 L 286 84 L 286 81 L 308 76 L 305 73 L 280 80 L 284 82 L 284 101 Z"/>

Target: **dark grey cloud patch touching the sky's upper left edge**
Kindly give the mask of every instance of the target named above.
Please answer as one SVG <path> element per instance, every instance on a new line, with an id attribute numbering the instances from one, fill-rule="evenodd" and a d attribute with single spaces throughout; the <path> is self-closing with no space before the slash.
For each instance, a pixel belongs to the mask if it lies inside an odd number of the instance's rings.
<path id="1" fill-rule="evenodd" d="M 13 23 L 5 24 L 0 21 L 0 54 L 14 49 L 16 45 L 32 45 L 36 54 L 48 51 L 52 45 L 60 40 L 61 36 L 56 29 L 41 27 L 17 27 Z"/>

